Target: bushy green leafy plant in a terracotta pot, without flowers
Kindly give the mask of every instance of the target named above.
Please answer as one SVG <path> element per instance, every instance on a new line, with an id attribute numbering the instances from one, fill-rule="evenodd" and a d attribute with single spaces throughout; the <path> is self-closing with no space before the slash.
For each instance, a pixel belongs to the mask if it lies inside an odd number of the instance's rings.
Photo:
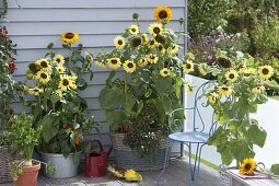
<path id="1" fill-rule="evenodd" d="M 36 185 L 40 164 L 44 162 L 32 159 L 35 146 L 38 146 L 42 127 L 33 127 L 33 116 L 22 113 L 21 117 L 13 115 L 11 127 L 3 133 L 3 138 L 16 150 L 23 160 L 10 164 L 11 177 L 16 186 Z M 55 173 L 55 167 L 44 163 L 48 171 Z"/>

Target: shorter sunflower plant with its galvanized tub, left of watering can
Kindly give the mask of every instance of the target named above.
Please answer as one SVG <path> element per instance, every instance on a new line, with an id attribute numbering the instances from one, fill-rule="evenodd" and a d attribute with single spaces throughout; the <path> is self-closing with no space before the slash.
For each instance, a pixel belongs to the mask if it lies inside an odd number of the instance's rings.
<path id="1" fill-rule="evenodd" d="M 50 51 L 45 58 L 30 62 L 22 83 L 24 92 L 33 97 L 24 105 L 31 107 L 34 125 L 42 126 L 37 150 L 43 161 L 56 165 L 55 177 L 78 174 L 81 152 L 91 147 L 85 136 L 96 127 L 94 117 L 86 111 L 86 101 L 78 94 L 88 86 L 84 73 L 93 78 L 93 56 L 89 53 L 83 56 L 81 44 L 72 46 L 78 39 L 75 33 L 61 35 L 62 47 L 70 54 L 68 57 L 56 54 L 54 44 L 49 44 Z M 65 164 L 69 168 L 65 170 Z"/>

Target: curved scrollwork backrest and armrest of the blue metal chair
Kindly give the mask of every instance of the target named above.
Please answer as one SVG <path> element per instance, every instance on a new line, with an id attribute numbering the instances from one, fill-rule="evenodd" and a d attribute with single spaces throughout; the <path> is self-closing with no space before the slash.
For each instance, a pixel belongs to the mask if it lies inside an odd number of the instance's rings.
<path id="1" fill-rule="evenodd" d="M 206 81 L 196 88 L 195 94 L 191 96 L 191 106 L 185 108 L 177 108 L 170 113 L 168 125 L 183 126 L 182 119 L 173 119 L 176 112 L 184 111 L 186 115 L 187 127 L 194 132 L 209 132 L 212 135 L 217 129 L 217 121 L 214 120 L 214 111 L 207 104 L 206 92 L 216 86 L 216 81 Z M 186 101 L 187 102 L 187 101 Z M 189 125 L 191 124 L 191 125 Z M 188 129 L 189 130 L 189 129 Z"/>

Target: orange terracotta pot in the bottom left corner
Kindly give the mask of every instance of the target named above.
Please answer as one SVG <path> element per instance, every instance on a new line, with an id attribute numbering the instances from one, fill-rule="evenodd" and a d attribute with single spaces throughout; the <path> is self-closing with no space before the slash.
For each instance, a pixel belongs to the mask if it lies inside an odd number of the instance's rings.
<path id="1" fill-rule="evenodd" d="M 36 186 L 40 163 L 33 161 L 34 165 L 23 166 L 23 174 L 14 182 L 15 186 Z"/>

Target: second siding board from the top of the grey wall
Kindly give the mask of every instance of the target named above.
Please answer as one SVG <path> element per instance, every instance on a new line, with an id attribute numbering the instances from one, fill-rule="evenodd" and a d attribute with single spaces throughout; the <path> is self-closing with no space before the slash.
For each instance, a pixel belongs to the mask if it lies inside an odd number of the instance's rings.
<path id="1" fill-rule="evenodd" d="M 179 20 L 184 14 L 184 8 L 173 8 L 172 20 Z M 137 12 L 141 21 L 153 20 L 153 9 L 11 9 L 8 11 L 9 22 L 65 22 L 65 21 L 131 21 L 132 13 Z M 36 15 L 36 16 L 34 16 Z M 74 15 L 74 16 L 72 16 Z"/>

